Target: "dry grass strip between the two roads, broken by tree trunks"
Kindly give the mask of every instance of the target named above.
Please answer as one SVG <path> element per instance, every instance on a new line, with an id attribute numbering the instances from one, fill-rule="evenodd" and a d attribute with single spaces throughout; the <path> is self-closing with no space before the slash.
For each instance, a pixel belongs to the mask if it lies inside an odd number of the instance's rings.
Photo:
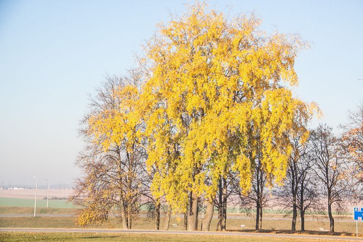
<path id="1" fill-rule="evenodd" d="M 216 220 L 211 223 L 211 231 L 216 228 Z M 227 229 L 229 231 L 255 232 L 254 220 L 251 219 L 227 219 Z M 160 229 L 164 229 L 165 221 L 162 218 Z M 178 224 L 178 227 L 173 227 L 172 224 Z M 242 230 L 241 225 L 245 225 Z M 336 222 L 333 235 L 354 236 L 356 231 L 354 222 Z M 2 228 L 82 228 L 75 224 L 75 217 L 2 217 L 0 218 L 0 227 Z M 200 224 L 199 224 L 200 227 Z M 290 234 L 290 220 L 263 220 L 262 233 L 284 233 Z M 103 229 L 121 229 L 120 222 L 116 218 L 111 218 L 108 222 L 100 225 L 91 225 L 86 228 L 103 228 Z M 296 228 L 299 228 L 297 224 Z M 329 228 L 329 222 L 306 221 L 304 234 L 314 235 L 332 235 L 329 232 L 320 232 L 319 228 Z M 133 221 L 133 229 L 154 229 L 154 221 L 146 218 L 139 218 Z M 170 222 L 170 230 L 184 230 L 181 218 L 172 217 Z M 359 231 L 363 232 L 363 224 L 359 224 Z M 301 232 L 294 232 L 301 234 Z"/>

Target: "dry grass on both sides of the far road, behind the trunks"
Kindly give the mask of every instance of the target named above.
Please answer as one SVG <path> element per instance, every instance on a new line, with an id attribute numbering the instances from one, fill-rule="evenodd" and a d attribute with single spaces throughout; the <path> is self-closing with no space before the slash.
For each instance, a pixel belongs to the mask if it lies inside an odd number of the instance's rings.
<path id="1" fill-rule="evenodd" d="M 60 209 L 60 208 L 39 208 L 37 213 L 40 214 L 77 214 L 78 209 Z M 0 214 L 31 214 L 32 208 L 22 207 L 0 207 Z M 231 214 L 231 216 L 235 216 Z M 274 220 L 271 219 L 273 217 Z M 284 233 L 290 234 L 291 220 L 285 220 L 281 215 L 264 215 L 263 230 L 262 233 Z M 270 219 L 269 219 L 270 218 Z M 0 227 L 2 228 L 82 228 L 75 224 L 75 217 L 0 217 Z M 313 220 L 313 217 L 307 216 L 305 222 L 304 234 L 314 235 L 329 235 L 328 232 L 320 232 L 319 228 L 328 230 L 329 222 L 324 220 Z M 334 235 L 342 236 L 354 236 L 356 232 L 356 223 L 350 220 L 350 217 L 344 217 L 341 219 L 348 219 L 347 222 L 336 221 Z M 199 220 L 201 221 L 201 220 Z M 160 229 L 164 229 L 164 218 L 161 218 Z M 212 220 L 211 231 L 216 229 L 216 219 Z M 173 227 L 172 224 L 178 224 L 177 227 Z M 182 218 L 172 216 L 170 222 L 170 230 L 181 231 L 184 230 L 182 225 Z M 241 225 L 245 225 L 245 228 L 241 228 Z M 200 224 L 199 224 L 200 227 Z M 299 229 L 299 222 L 296 225 L 296 229 Z M 103 229 L 121 229 L 120 222 L 116 218 L 112 217 L 104 224 L 97 224 L 87 226 L 86 228 L 103 228 Z M 154 221 L 145 217 L 139 217 L 133 220 L 133 229 L 154 229 Z M 243 231 L 243 232 L 255 232 L 255 220 L 253 219 L 227 219 L 227 229 L 229 231 Z M 363 224 L 359 223 L 359 231 L 363 232 Z M 295 234 L 301 234 L 301 232 L 294 232 Z"/>

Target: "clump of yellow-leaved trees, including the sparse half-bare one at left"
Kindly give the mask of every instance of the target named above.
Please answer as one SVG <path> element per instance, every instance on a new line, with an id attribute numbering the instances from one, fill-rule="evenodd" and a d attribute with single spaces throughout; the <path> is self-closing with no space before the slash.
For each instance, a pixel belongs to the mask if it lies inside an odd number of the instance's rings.
<path id="1" fill-rule="evenodd" d="M 225 230 L 232 176 L 243 194 L 260 174 L 256 164 L 268 184 L 283 181 L 292 151 L 288 137 L 301 133 L 315 106 L 291 92 L 298 84 L 294 62 L 303 43 L 294 36 L 267 35 L 260 22 L 253 15 L 229 19 L 196 3 L 158 26 L 140 60 L 145 77 L 116 85 L 102 99 L 110 105 L 97 105 L 87 118 L 86 135 L 102 156 L 82 162 L 88 174 L 79 194 L 88 189 L 89 196 L 80 221 L 103 221 L 112 200 L 123 227 L 131 228 L 133 207 L 147 186 L 157 229 L 165 198 L 169 210 L 184 213 L 188 230 L 197 230 L 203 202 L 202 230 L 209 230 L 219 191 Z M 146 177 L 151 184 L 145 184 Z"/>

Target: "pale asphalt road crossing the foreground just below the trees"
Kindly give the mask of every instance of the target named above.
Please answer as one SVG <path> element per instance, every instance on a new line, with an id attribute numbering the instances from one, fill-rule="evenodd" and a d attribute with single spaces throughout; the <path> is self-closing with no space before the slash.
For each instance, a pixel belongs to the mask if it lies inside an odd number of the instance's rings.
<path id="1" fill-rule="evenodd" d="M 316 239 L 333 241 L 363 241 L 363 238 L 339 237 L 339 236 L 314 236 L 314 235 L 289 235 L 269 233 L 244 233 L 244 232 L 202 232 L 202 231 L 156 231 L 156 230 L 99 230 L 99 229 L 4 229 L 0 232 L 45 232 L 45 233 L 132 233 L 132 234 L 172 234 L 172 235 L 221 235 L 263 238 L 290 238 L 290 239 Z"/>

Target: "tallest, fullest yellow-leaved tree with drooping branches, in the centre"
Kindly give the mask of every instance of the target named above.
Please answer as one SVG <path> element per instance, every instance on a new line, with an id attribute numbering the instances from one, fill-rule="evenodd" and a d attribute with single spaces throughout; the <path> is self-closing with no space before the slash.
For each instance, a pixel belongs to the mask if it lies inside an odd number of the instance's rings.
<path id="1" fill-rule="evenodd" d="M 189 206 L 189 230 L 197 229 L 199 199 L 213 208 L 218 182 L 231 170 L 249 191 L 257 156 L 268 178 L 281 182 L 291 152 L 285 133 L 296 116 L 311 115 L 290 90 L 298 84 L 294 62 L 303 43 L 267 35 L 259 24 L 196 3 L 160 24 L 146 45 L 149 76 L 140 100 L 152 144 L 147 165 L 159 170 L 153 191 L 176 212 Z M 203 230 L 209 224 L 203 221 Z"/>

